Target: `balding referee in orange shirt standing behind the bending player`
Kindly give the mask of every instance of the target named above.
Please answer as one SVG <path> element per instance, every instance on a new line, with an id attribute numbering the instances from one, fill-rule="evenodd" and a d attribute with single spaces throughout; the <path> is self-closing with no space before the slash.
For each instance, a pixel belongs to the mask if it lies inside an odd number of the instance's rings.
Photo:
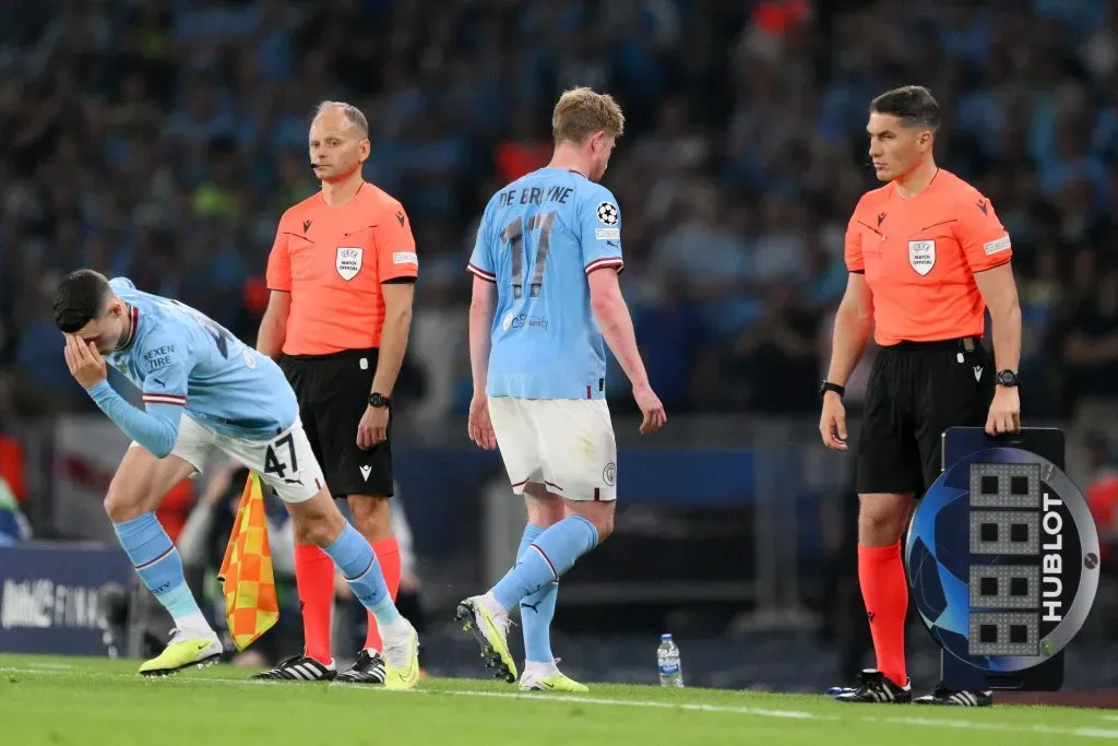
<path id="1" fill-rule="evenodd" d="M 400 548 L 389 521 L 389 422 L 419 266 L 404 208 L 362 178 L 369 150 L 360 110 L 331 101 L 319 105 L 310 152 L 322 189 L 280 220 L 257 349 L 287 375 L 326 484 L 349 501 L 353 525 L 372 545 L 395 601 Z M 255 678 L 383 683 L 381 639 L 371 615 L 357 662 L 338 673 L 330 645 L 333 565 L 305 537 L 296 536 L 295 545 L 305 650 Z"/>

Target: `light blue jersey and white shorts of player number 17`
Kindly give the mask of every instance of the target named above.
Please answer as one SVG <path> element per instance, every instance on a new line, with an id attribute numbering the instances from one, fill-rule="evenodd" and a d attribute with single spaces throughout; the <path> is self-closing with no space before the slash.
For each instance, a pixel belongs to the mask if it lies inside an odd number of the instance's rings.
<path id="1" fill-rule="evenodd" d="M 620 211 L 568 169 L 533 171 L 496 192 L 468 270 L 496 284 L 486 395 L 513 489 L 613 500 L 617 446 L 606 351 L 587 275 L 620 272 Z"/>

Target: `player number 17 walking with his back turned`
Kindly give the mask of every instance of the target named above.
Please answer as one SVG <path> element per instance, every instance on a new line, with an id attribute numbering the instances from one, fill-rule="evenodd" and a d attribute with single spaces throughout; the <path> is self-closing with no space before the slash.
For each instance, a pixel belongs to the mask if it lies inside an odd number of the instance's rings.
<path id="1" fill-rule="evenodd" d="M 556 668 L 549 627 L 559 578 L 613 530 L 617 447 L 605 399 L 605 343 L 633 385 L 642 433 L 666 416 L 648 385 L 617 274 L 622 218 L 597 183 L 624 128 L 620 108 L 589 88 L 562 94 L 547 168 L 490 199 L 468 270 L 470 437 L 500 447 L 528 526 L 517 565 L 458 605 L 457 618 L 498 678 L 517 680 L 509 614 L 520 606 L 521 689 L 585 691 Z"/>

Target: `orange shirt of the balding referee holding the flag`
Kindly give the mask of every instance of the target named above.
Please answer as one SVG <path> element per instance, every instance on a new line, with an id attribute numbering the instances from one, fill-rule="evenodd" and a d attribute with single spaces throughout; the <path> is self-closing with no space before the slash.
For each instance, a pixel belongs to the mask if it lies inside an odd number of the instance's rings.
<path id="1" fill-rule="evenodd" d="M 280 219 L 268 256 L 269 290 L 291 293 L 284 355 L 330 355 L 380 347 L 380 284 L 419 273 L 404 207 L 371 183 L 344 205 L 322 192 Z"/>

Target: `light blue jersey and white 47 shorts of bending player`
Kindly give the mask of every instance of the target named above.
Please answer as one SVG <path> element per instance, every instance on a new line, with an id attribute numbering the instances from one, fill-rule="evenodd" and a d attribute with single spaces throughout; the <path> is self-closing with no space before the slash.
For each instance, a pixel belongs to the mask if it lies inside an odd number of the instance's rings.
<path id="1" fill-rule="evenodd" d="M 215 450 L 233 456 L 285 502 L 310 500 L 324 484 L 283 371 L 200 311 L 110 282 L 132 313 L 131 336 L 105 355 L 143 391 L 145 412 L 102 381 L 89 389 L 105 413 L 157 456 L 173 454 L 198 473 Z"/>

